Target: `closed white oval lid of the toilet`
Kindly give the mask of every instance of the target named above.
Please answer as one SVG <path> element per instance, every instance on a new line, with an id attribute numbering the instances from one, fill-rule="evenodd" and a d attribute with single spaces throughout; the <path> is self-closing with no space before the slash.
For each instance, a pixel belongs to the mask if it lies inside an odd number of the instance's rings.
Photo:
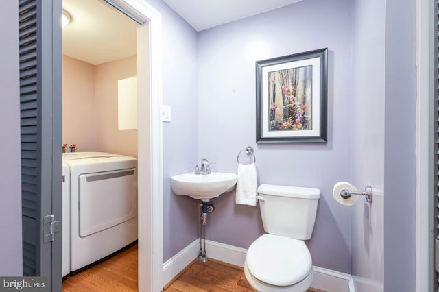
<path id="1" fill-rule="evenodd" d="M 296 284 L 312 268 L 305 242 L 272 234 L 264 234 L 248 247 L 246 264 L 255 278 L 276 286 Z"/>

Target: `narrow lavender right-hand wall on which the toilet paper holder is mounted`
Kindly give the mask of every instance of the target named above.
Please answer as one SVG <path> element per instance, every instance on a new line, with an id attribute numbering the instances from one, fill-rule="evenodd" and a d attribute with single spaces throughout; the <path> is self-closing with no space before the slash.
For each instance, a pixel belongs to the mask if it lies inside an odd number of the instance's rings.
<path id="1" fill-rule="evenodd" d="M 356 0 L 353 9 L 351 183 L 373 187 L 373 202 L 352 208 L 355 291 L 383 291 L 385 2 Z M 373 119 L 370 117 L 373 116 Z"/>

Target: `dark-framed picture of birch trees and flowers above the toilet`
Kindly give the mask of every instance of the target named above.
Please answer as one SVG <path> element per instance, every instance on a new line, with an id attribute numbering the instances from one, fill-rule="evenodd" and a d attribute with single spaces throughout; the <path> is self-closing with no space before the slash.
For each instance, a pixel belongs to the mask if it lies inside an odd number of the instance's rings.
<path id="1" fill-rule="evenodd" d="M 257 143 L 327 142 L 327 54 L 256 62 Z"/>

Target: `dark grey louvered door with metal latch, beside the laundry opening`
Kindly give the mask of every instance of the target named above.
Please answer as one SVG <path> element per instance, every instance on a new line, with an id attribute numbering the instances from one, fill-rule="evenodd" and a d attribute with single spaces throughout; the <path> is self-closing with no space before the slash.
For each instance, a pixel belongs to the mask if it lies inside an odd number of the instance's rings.
<path id="1" fill-rule="evenodd" d="M 62 287 L 61 232 L 50 234 L 62 199 L 61 5 L 19 0 L 23 276 L 47 277 L 51 291 Z"/>

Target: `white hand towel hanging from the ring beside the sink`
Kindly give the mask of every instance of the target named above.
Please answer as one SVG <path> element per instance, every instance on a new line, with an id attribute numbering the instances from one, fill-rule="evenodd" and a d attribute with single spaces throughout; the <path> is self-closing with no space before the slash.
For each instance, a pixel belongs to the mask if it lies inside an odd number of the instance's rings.
<path id="1" fill-rule="evenodd" d="M 238 181 L 236 184 L 236 204 L 256 206 L 258 182 L 256 167 L 250 165 L 238 165 Z"/>

